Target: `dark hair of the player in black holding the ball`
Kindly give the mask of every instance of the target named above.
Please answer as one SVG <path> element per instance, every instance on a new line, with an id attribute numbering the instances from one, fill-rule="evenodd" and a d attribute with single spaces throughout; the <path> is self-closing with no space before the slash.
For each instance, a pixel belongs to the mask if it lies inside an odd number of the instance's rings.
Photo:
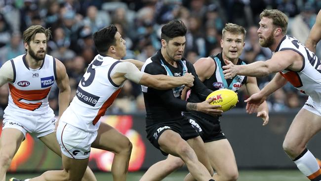
<path id="1" fill-rule="evenodd" d="M 171 20 L 163 27 L 161 27 L 161 39 L 166 42 L 175 38 L 183 37 L 186 35 L 187 28 L 181 20 Z"/>

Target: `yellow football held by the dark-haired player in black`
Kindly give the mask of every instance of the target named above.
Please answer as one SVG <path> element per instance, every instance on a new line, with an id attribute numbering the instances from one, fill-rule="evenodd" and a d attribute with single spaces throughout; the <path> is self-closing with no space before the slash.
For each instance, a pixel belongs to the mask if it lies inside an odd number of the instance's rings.
<path id="1" fill-rule="evenodd" d="M 236 103 L 238 103 L 238 94 L 233 90 L 229 89 L 220 89 L 215 90 L 210 93 L 206 99 L 213 97 L 214 100 L 210 103 L 212 105 L 221 105 L 224 112 L 235 107 Z"/>

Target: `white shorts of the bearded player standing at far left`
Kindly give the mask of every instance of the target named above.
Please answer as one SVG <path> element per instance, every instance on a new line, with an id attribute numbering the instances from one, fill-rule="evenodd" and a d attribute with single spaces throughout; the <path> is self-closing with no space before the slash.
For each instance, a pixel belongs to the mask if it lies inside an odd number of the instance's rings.
<path id="1" fill-rule="evenodd" d="M 2 130 L 14 128 L 20 130 L 25 137 L 27 133 L 42 137 L 54 132 L 56 119 L 52 109 L 39 115 L 26 115 L 4 110 L 2 123 Z"/>

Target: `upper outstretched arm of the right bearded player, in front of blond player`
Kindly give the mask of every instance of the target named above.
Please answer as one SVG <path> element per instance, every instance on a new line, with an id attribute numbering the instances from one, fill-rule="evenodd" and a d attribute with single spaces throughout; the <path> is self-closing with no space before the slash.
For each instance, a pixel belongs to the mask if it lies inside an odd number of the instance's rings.
<path id="1" fill-rule="evenodd" d="M 302 56 L 293 50 L 283 50 L 274 53 L 271 59 L 266 61 L 257 61 L 247 65 L 234 65 L 228 61 L 229 64 L 223 66 L 225 79 L 230 79 L 236 75 L 262 77 L 271 73 L 276 73 L 291 66 L 291 70 L 299 71 L 302 65 Z M 298 68 L 299 67 L 299 68 Z"/>

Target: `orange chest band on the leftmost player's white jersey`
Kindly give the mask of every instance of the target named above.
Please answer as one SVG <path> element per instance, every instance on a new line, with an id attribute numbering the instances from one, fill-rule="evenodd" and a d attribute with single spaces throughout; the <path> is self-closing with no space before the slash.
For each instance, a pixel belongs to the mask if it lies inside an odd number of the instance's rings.
<path id="1" fill-rule="evenodd" d="M 44 90 L 18 90 L 17 88 L 9 84 L 9 91 L 14 104 L 22 109 L 27 109 L 30 111 L 38 109 L 42 105 L 42 102 L 25 103 L 21 102 L 21 100 L 42 100 L 47 97 L 50 89 L 51 88 Z"/>

